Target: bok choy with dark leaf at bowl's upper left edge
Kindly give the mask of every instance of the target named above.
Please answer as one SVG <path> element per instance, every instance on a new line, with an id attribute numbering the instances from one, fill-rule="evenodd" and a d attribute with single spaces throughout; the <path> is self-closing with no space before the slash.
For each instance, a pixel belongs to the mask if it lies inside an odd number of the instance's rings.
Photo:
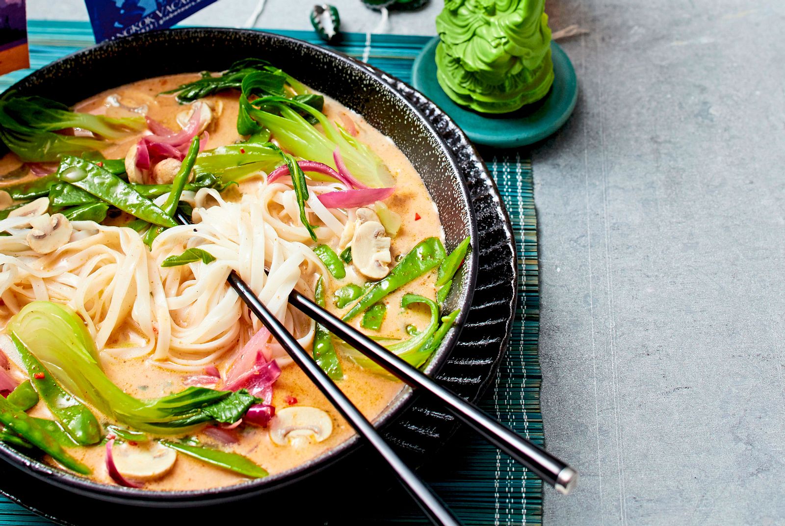
<path id="1" fill-rule="evenodd" d="M 79 155 L 104 148 L 100 137 L 74 137 L 57 130 L 81 128 L 97 136 L 119 139 L 144 129 L 144 119 L 114 119 L 71 111 L 68 106 L 44 97 L 16 97 L 0 100 L 0 140 L 25 162 L 49 162 L 63 155 Z"/>

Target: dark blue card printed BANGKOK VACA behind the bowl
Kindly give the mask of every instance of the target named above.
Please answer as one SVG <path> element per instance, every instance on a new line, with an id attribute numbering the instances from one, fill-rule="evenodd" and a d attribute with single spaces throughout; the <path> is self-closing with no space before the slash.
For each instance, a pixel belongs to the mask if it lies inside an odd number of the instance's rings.
<path id="1" fill-rule="evenodd" d="M 96 42 L 172 27 L 216 0 L 85 0 Z M 2 2 L 2 0 L 0 0 Z"/>

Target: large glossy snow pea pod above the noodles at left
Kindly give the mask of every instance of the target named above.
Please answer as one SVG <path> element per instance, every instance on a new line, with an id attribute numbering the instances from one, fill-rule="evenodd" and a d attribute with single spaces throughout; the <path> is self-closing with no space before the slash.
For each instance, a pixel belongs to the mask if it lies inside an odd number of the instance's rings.
<path id="1" fill-rule="evenodd" d="M 60 162 L 57 177 L 144 221 L 164 227 L 177 226 L 176 221 L 155 203 L 144 199 L 130 184 L 89 161 L 67 155 Z"/>

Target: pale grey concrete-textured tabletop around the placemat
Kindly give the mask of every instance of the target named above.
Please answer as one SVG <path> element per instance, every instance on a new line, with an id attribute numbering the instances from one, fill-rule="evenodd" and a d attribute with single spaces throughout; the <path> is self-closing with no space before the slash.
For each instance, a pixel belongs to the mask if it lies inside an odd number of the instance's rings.
<path id="1" fill-rule="evenodd" d="M 257 27 L 309 28 L 312 0 Z M 378 14 L 333 0 L 345 31 Z M 187 20 L 243 24 L 256 2 Z M 441 9 L 396 13 L 430 35 Z M 580 99 L 532 150 L 546 524 L 785 524 L 785 3 L 549 0 Z M 86 19 L 81 0 L 31 18 Z"/>

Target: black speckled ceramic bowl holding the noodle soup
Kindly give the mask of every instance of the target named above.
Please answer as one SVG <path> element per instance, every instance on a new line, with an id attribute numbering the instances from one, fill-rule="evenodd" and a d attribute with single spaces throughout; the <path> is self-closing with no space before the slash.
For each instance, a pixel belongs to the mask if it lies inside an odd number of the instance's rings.
<path id="1" fill-rule="evenodd" d="M 395 142 L 418 170 L 439 208 L 447 249 L 466 236 L 477 239 L 466 181 L 451 148 L 431 122 L 367 65 L 294 38 L 259 31 L 188 28 L 134 35 L 80 51 L 41 68 L 11 89 L 75 104 L 105 89 L 128 82 L 192 71 L 221 71 L 234 60 L 270 60 L 306 85 L 363 115 L 367 122 Z M 471 303 L 477 269 L 477 250 L 463 265 L 448 299 L 450 309 L 462 308 L 456 327 L 448 334 L 425 371 L 435 374 L 458 341 Z M 405 389 L 377 419 L 383 426 L 411 401 Z M 50 484 L 95 499 L 137 506 L 210 506 L 263 492 L 308 477 L 359 445 L 357 437 L 301 466 L 270 477 L 225 488 L 200 491 L 144 491 L 98 484 L 54 469 L 0 443 L 0 457 Z"/>

